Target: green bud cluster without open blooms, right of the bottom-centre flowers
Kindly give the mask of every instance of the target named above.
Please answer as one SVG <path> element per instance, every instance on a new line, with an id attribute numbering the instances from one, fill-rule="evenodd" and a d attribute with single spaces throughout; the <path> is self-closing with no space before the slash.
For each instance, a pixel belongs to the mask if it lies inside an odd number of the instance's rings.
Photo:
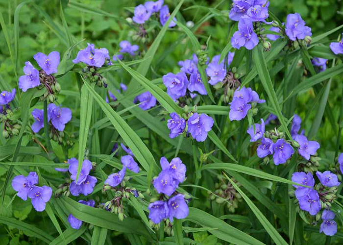
<path id="1" fill-rule="evenodd" d="M 225 204 L 231 213 L 235 212 L 235 209 L 238 208 L 238 202 L 242 202 L 242 196 L 236 191 L 229 181 L 226 181 L 224 176 L 218 176 L 219 182 L 215 184 L 215 194 L 208 193 L 211 200 L 215 200 L 218 204 Z M 232 180 L 240 186 L 234 178 Z"/>

